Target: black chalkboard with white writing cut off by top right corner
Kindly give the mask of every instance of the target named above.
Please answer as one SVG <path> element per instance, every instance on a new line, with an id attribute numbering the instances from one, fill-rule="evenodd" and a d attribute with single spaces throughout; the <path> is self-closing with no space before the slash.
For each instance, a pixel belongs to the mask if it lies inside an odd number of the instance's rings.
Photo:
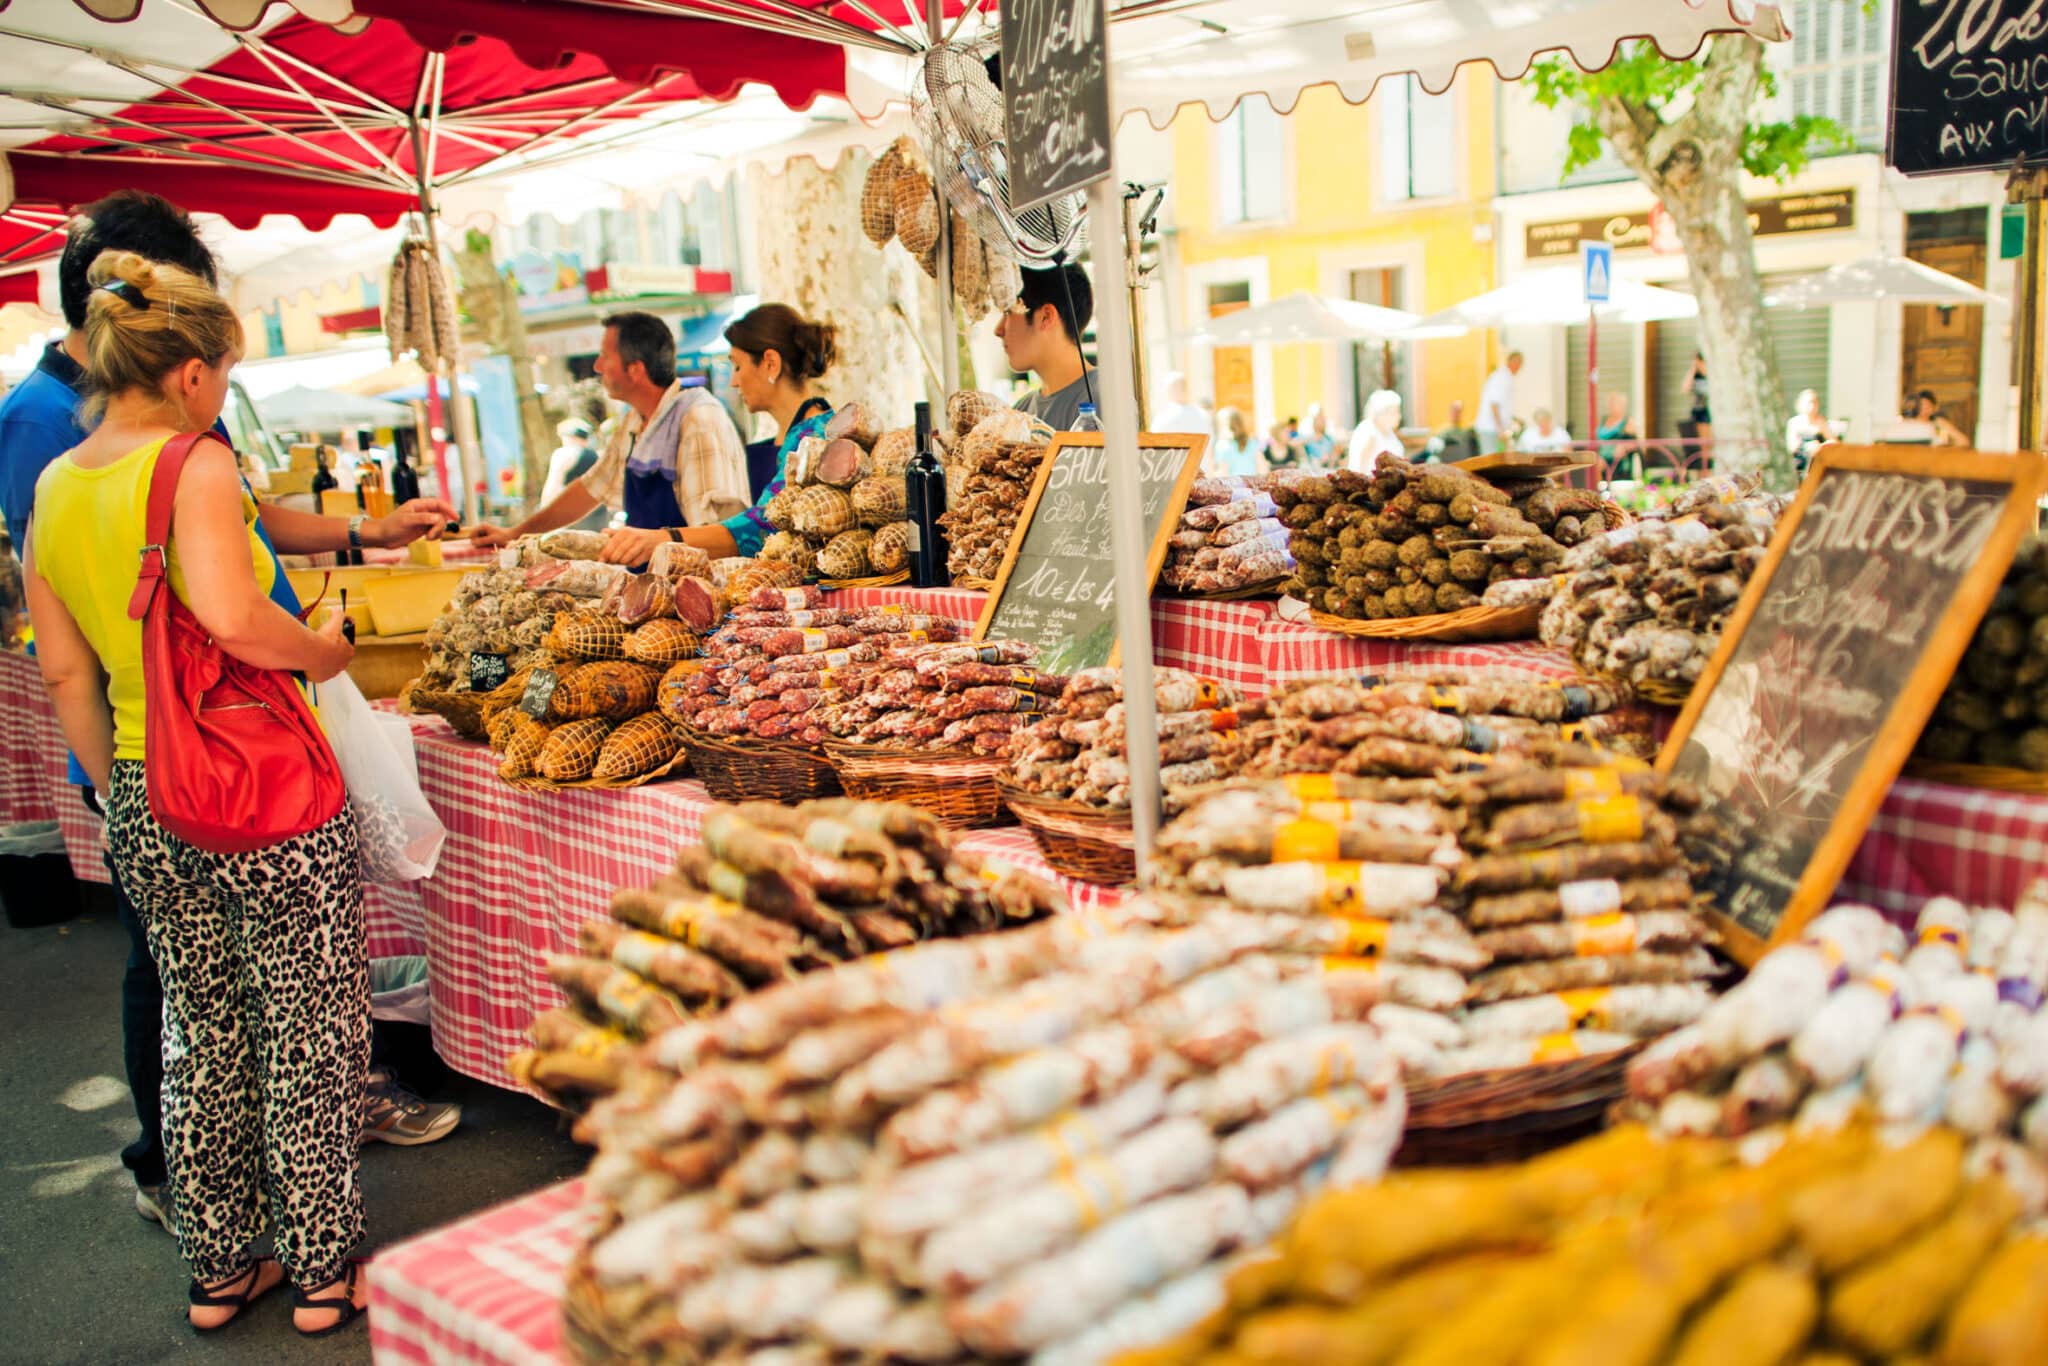
<path id="1" fill-rule="evenodd" d="M 1894 0 L 1884 160 L 1909 176 L 2048 160 L 2048 8 Z"/>

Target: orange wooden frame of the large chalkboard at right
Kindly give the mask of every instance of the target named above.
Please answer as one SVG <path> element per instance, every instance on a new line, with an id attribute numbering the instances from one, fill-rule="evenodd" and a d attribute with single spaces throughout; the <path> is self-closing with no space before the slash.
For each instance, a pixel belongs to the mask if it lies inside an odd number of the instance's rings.
<path id="1" fill-rule="evenodd" d="M 2019 539 L 2034 528 L 2038 518 L 2036 500 L 2044 489 L 2048 489 L 2048 461 L 2040 455 L 1989 455 L 1980 451 L 1933 446 L 1823 446 L 1819 459 L 1815 459 L 1815 465 L 1806 475 L 1806 481 L 1798 489 L 1798 498 L 1780 520 L 1763 563 L 1749 578 L 1749 586 L 1743 590 L 1743 598 L 1737 602 L 1735 614 L 1722 629 L 1720 643 L 1716 645 L 1712 659 L 1708 659 L 1706 670 L 1694 684 L 1692 696 L 1686 698 L 1686 709 L 1671 727 L 1671 737 L 1657 754 L 1657 772 L 1661 776 L 1669 776 L 1677 766 L 1677 760 L 1686 750 L 1686 741 L 1692 737 L 1700 715 L 1706 711 L 1708 700 L 1714 696 L 1714 688 L 1720 684 L 1722 672 L 1729 668 L 1737 647 L 1743 643 L 1743 635 L 1749 629 L 1757 606 L 1776 582 L 1778 567 L 1784 563 L 1792 541 L 1798 535 L 1806 508 L 1812 504 L 1812 498 L 1821 487 L 1821 479 L 1831 471 L 1896 473 L 1927 479 L 2003 483 L 2011 487 L 2011 496 L 1993 526 L 1982 553 L 1978 553 L 1976 563 L 1964 571 L 1962 586 L 1956 590 L 1956 596 L 1950 598 L 1933 633 L 1927 637 L 1927 647 L 1913 664 L 1913 672 L 1907 676 L 1905 688 L 1901 688 L 1882 721 L 1876 723 L 1870 745 L 1864 750 L 1864 758 L 1858 764 L 1855 778 L 1849 782 L 1847 795 L 1835 809 L 1827 834 L 1815 846 L 1812 858 L 1808 858 L 1806 868 L 1800 872 L 1798 887 L 1792 891 L 1792 899 L 1786 901 L 1786 907 L 1778 917 L 1778 928 L 1765 940 L 1737 924 L 1735 917 L 1726 915 L 1718 907 L 1710 911 L 1710 917 L 1722 932 L 1729 952 L 1733 952 L 1745 967 L 1753 965 L 1778 944 L 1796 938 L 1804 924 L 1825 909 L 1827 899 L 1835 893 L 1835 885 L 1849 866 L 1849 858 L 1855 854 L 1855 846 L 1862 844 L 1864 831 L 1870 827 L 1870 819 L 1884 803 L 1884 795 L 1890 791 L 1892 778 L 1896 778 L 1898 770 L 1905 766 L 1907 756 L 1919 741 L 1921 727 L 1927 723 L 1927 717 L 1933 715 L 1933 707 L 1942 698 L 1942 690 L 1948 688 L 1948 680 L 1962 661 L 1962 653 L 1968 649 L 1970 637 L 1976 633 L 1978 623 L 1989 610 L 1993 594 L 2005 580 L 2005 569 L 2013 561 L 2013 551 L 2019 547 Z"/>

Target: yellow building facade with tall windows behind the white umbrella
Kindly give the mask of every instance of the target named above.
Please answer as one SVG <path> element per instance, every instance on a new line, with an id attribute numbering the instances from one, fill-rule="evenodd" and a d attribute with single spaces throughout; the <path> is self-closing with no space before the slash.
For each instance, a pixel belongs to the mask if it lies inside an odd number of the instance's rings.
<path id="1" fill-rule="evenodd" d="M 1495 78 L 1464 70 L 1440 96 L 1384 80 L 1364 104 L 1307 90 L 1288 115 L 1257 96 L 1225 121 L 1171 125 L 1174 317 L 1202 319 L 1307 291 L 1432 313 L 1495 285 Z M 1321 403 L 1352 426 L 1372 389 L 1403 424 L 1466 422 L 1497 362 L 1491 332 L 1395 348 L 1346 342 L 1176 346 L 1194 395 L 1245 408 L 1257 430 Z"/>

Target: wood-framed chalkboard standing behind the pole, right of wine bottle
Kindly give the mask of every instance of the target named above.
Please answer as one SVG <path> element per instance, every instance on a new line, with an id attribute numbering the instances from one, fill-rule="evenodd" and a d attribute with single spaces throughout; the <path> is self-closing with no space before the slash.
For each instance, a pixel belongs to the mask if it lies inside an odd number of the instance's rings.
<path id="1" fill-rule="evenodd" d="M 1188 506 L 1206 436 L 1139 436 L 1139 487 L 1159 578 L 1165 541 Z M 1061 432 L 1038 465 L 1010 553 L 995 571 L 975 639 L 1028 641 L 1047 674 L 1116 661 L 1116 571 L 1110 565 L 1110 467 L 1102 432 Z"/>

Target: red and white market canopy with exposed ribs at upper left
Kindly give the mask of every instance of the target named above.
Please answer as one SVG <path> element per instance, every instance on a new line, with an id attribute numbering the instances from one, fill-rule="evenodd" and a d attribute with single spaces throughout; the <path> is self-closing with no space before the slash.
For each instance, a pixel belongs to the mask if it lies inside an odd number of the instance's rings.
<path id="1" fill-rule="evenodd" d="M 0 0 L 0 303 L 33 301 L 66 215 L 119 188 L 236 227 L 391 225 L 442 186 L 629 141 L 750 82 L 791 109 L 846 88 L 838 43 L 573 0 L 207 8 Z"/>

